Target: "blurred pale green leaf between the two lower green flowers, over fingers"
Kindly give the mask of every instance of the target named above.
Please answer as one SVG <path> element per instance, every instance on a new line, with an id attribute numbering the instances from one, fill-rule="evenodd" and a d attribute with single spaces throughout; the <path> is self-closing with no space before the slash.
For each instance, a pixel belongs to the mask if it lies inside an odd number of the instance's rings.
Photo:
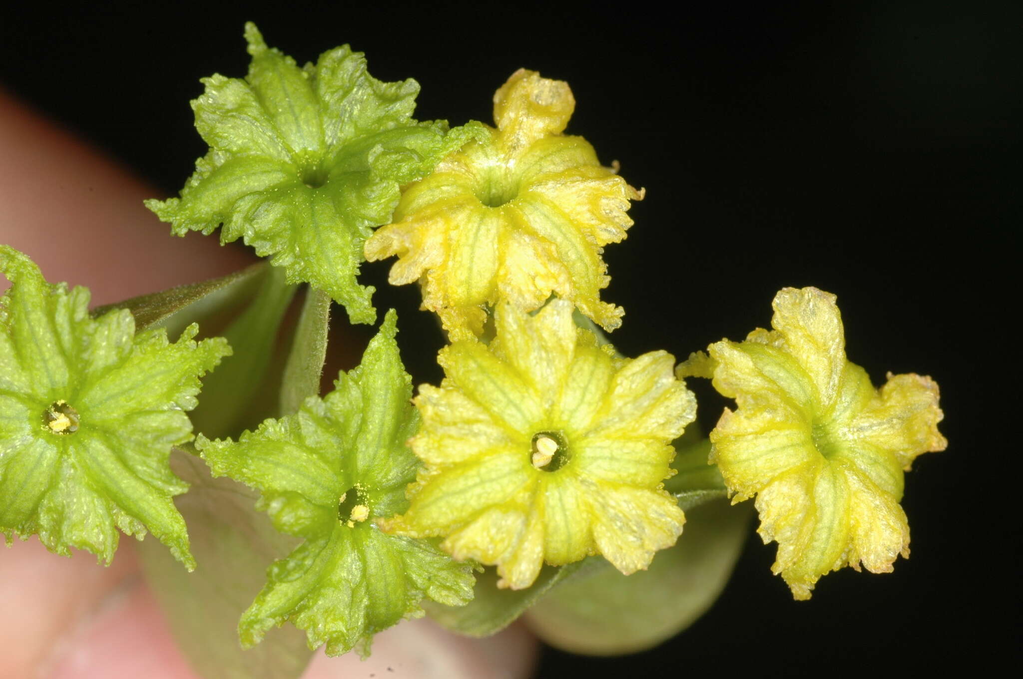
<path id="1" fill-rule="evenodd" d="M 175 450 L 171 464 L 190 484 L 176 503 L 191 527 L 199 568 L 186 575 L 166 550 L 143 543 L 142 567 L 178 647 L 203 677 L 294 679 L 312 653 L 297 629 L 272 630 L 258 648 L 242 649 L 237 622 L 265 579 L 266 563 L 297 543 L 255 510 L 258 494 L 230 479 L 213 479 L 194 455 Z"/>

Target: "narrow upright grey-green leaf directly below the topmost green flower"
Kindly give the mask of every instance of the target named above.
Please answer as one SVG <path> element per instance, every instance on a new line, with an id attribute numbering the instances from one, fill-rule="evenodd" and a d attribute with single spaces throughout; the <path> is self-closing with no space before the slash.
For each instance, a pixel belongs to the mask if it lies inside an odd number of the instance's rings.
<path id="1" fill-rule="evenodd" d="M 280 387 L 280 412 L 290 415 L 310 396 L 319 395 L 330 329 L 330 296 L 310 287 L 302 306 Z"/>

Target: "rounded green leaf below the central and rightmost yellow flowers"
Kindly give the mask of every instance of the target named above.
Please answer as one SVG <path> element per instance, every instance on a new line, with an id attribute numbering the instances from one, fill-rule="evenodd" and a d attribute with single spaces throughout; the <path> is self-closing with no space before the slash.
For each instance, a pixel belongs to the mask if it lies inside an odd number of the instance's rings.
<path id="1" fill-rule="evenodd" d="M 545 642 L 574 653 L 651 648 L 717 599 L 739 558 L 750 513 L 723 500 L 686 511 L 678 543 L 659 552 L 649 570 L 623 576 L 597 562 L 551 591 L 525 621 Z"/>

